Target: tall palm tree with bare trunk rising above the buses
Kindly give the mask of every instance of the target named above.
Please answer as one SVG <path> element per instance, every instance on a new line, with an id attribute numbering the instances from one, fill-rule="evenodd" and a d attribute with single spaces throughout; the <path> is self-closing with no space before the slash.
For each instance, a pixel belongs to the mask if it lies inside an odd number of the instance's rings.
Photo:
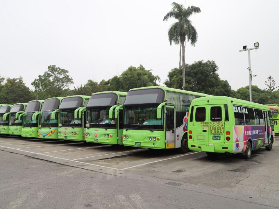
<path id="1" fill-rule="evenodd" d="M 189 6 L 187 9 L 182 4 L 176 2 L 171 4 L 173 8 L 167 13 L 163 21 L 167 21 L 169 18 L 173 17 L 178 20 L 178 22 L 172 24 L 169 27 L 169 43 L 170 45 L 174 42 L 175 44 L 180 44 L 179 52 L 179 67 L 181 66 L 182 60 L 182 87 L 185 87 L 185 44 L 186 38 L 187 41 L 191 43 L 192 46 L 195 46 L 198 33 L 196 28 L 192 26 L 192 21 L 189 20 L 189 17 L 195 13 L 201 12 L 199 7 Z M 181 48 L 182 48 L 182 57 L 181 57 Z M 181 59 L 182 58 L 182 59 Z"/>

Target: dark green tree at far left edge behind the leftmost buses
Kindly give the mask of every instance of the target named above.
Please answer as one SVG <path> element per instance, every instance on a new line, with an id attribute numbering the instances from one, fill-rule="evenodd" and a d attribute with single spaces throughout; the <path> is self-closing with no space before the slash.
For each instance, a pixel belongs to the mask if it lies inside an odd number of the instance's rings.
<path id="1" fill-rule="evenodd" d="M 19 78 L 8 78 L 2 85 L 0 92 L 0 104 L 15 104 L 18 102 L 28 102 L 35 99 L 28 87 Z"/>

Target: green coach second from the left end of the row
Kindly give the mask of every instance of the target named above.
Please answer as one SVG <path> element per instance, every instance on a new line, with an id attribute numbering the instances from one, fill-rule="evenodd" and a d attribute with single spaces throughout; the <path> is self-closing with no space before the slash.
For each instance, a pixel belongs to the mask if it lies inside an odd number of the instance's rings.
<path id="1" fill-rule="evenodd" d="M 19 117 L 27 106 L 27 103 L 17 103 L 12 106 L 10 110 L 10 126 L 9 126 L 9 134 L 12 135 L 20 135 L 23 127 L 22 117 Z"/>

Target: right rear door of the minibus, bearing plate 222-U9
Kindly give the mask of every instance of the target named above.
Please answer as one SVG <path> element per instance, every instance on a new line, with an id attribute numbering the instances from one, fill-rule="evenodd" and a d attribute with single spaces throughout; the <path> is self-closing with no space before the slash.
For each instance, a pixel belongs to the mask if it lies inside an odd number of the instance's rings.
<path id="1" fill-rule="evenodd" d="M 224 105 L 209 105 L 208 114 L 209 145 L 224 145 L 226 138 Z"/>

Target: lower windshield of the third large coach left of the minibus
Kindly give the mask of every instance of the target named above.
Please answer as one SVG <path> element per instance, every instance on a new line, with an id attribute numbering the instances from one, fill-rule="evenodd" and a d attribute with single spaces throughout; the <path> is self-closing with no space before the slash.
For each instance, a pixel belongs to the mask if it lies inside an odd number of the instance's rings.
<path id="1" fill-rule="evenodd" d="M 74 111 L 75 109 L 60 111 L 60 123 L 62 126 L 81 127 L 81 118 L 75 118 Z"/>

